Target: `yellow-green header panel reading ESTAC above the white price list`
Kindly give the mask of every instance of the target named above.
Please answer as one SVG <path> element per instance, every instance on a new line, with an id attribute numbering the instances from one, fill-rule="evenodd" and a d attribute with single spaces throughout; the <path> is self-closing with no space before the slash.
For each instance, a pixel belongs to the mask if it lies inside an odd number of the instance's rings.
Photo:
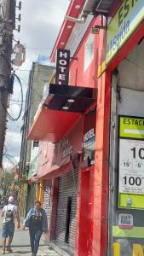
<path id="1" fill-rule="evenodd" d="M 144 139 L 144 118 L 120 117 L 119 137 Z"/>

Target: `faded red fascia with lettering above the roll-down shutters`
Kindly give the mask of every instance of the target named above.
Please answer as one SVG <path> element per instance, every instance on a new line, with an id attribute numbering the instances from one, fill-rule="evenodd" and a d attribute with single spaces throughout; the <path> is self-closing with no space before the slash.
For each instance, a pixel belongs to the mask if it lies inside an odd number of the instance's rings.
<path id="1" fill-rule="evenodd" d="M 72 129 L 66 133 L 64 139 L 68 139 L 69 145 L 72 145 L 71 155 L 76 154 L 78 151 L 82 150 L 83 118 L 79 119 L 78 122 L 73 125 Z M 61 141 L 62 139 L 60 142 Z M 60 169 L 60 167 L 65 166 L 70 162 L 70 154 L 68 154 L 66 157 L 63 157 L 63 152 L 66 148 L 63 148 L 62 146 L 57 147 L 59 143 L 54 144 L 49 142 L 41 142 L 38 159 L 38 178 L 44 177 L 46 175 L 46 178 L 49 178 L 48 175 L 51 174 L 51 172 L 55 172 L 55 170 Z M 67 168 L 67 171 L 69 172 L 70 169 L 72 168 Z M 57 173 L 54 173 L 53 177 L 57 177 Z"/>

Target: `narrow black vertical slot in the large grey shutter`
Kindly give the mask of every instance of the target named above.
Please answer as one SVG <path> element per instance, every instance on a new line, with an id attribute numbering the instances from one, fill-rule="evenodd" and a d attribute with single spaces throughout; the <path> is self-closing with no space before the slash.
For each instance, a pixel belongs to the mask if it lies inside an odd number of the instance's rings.
<path id="1" fill-rule="evenodd" d="M 70 233 L 71 212 L 72 212 L 72 196 L 68 196 L 67 211 L 66 211 L 66 232 L 65 232 L 66 243 L 68 243 L 69 233 Z"/>

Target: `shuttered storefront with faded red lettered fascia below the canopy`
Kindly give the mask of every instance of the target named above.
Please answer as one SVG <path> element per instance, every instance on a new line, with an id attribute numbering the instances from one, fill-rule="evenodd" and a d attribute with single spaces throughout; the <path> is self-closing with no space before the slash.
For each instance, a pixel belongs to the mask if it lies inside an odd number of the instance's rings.
<path id="1" fill-rule="evenodd" d="M 82 154 L 83 123 L 83 118 L 79 119 L 72 129 L 66 132 L 65 137 L 62 137 L 55 145 L 46 142 L 41 144 L 39 172 L 37 173 L 38 177 L 43 178 L 44 183 L 47 184 L 43 206 L 46 212 L 49 212 L 49 237 L 52 246 L 58 250 L 66 250 L 68 253 L 74 253 L 76 241 L 78 172 Z M 53 147 L 51 160 L 49 159 L 50 146 Z M 45 164 L 43 154 L 45 154 Z M 51 161 L 51 166 L 48 169 L 49 161 Z M 43 175 L 43 170 L 47 170 L 45 175 Z M 54 180 L 58 183 L 57 193 L 53 193 Z M 52 200 L 50 205 L 48 203 L 49 193 Z M 52 233 L 55 235 L 52 236 Z"/>

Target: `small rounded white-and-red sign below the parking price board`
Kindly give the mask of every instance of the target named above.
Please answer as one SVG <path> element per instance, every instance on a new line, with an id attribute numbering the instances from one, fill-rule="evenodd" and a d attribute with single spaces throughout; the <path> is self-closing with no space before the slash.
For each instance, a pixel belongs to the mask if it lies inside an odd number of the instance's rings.
<path id="1" fill-rule="evenodd" d="M 130 230 L 133 227 L 133 216 L 132 214 L 120 213 L 118 215 L 118 227 L 124 230 Z"/>

